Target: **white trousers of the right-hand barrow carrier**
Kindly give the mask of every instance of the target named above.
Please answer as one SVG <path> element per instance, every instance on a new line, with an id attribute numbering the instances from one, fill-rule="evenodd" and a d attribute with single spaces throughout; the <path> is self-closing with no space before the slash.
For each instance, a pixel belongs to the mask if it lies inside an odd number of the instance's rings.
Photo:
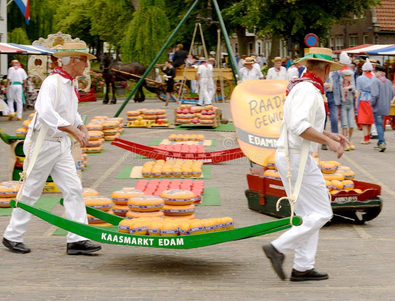
<path id="1" fill-rule="evenodd" d="M 289 159 L 293 192 L 299 168 L 300 154 L 289 154 Z M 276 152 L 276 167 L 287 196 L 289 196 L 285 153 L 278 150 Z M 278 252 L 283 254 L 294 249 L 293 268 L 305 271 L 314 268 L 319 229 L 332 218 L 332 207 L 325 181 L 317 167 L 316 160 L 312 156 L 309 156 L 307 159 L 302 187 L 295 205 L 295 214 L 303 218 L 303 224 L 292 226 L 288 231 L 272 241 L 272 245 Z"/>

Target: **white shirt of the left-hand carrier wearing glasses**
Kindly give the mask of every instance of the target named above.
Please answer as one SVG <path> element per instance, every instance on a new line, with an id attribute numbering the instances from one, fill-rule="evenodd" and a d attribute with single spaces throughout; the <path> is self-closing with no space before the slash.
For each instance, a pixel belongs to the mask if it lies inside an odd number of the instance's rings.
<path id="1" fill-rule="evenodd" d="M 57 76 L 49 75 L 42 82 L 39 96 L 35 103 L 37 119 L 35 130 L 40 130 L 41 124 L 48 127 L 48 135 L 53 137 L 64 137 L 68 133 L 60 131 L 58 127 L 74 125 L 78 127 L 82 123 L 78 109 L 78 98 L 70 79 L 61 77 L 62 93 L 57 107 L 55 108 L 58 80 Z"/>

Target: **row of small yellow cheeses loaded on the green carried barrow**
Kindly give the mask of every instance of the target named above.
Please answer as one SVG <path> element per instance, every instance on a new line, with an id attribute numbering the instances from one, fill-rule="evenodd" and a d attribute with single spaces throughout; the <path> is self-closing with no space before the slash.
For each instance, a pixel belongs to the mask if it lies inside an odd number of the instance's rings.
<path id="1" fill-rule="evenodd" d="M 232 230 L 235 222 L 231 217 L 208 219 L 169 220 L 158 217 L 140 217 L 120 221 L 118 231 L 135 235 L 176 236 L 212 233 Z"/>

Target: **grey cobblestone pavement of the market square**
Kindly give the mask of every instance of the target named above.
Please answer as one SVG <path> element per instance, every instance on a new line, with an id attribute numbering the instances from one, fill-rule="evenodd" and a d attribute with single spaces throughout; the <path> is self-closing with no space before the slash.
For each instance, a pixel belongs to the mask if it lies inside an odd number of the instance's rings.
<path id="1" fill-rule="evenodd" d="M 79 112 L 86 114 L 87 120 L 95 115 L 114 116 L 121 102 L 122 99 L 115 105 L 104 105 L 101 101 L 80 103 Z M 154 99 L 143 103 L 130 101 L 120 116 L 126 117 L 127 110 L 162 105 L 163 102 Z M 217 106 L 225 118 L 231 118 L 229 103 Z M 174 107 L 170 103 L 167 109 L 170 120 Z M 25 111 L 24 118 L 31 112 Z M 5 133 L 14 134 L 20 127 L 20 121 L 9 122 L 0 117 L 0 128 Z M 147 144 L 153 138 L 165 138 L 174 132 L 125 129 L 122 137 Z M 338 160 L 352 167 L 356 179 L 381 185 L 384 206 L 377 218 L 364 225 L 344 221 L 322 228 L 316 268 L 327 271 L 328 280 L 302 283 L 279 280 L 262 252 L 262 245 L 279 233 L 191 250 L 103 244 L 95 254 L 68 256 L 65 236 L 51 235 L 54 226 L 33 217 L 25 235 L 31 253 L 13 254 L 0 246 L 0 300 L 395 300 L 394 132 L 388 128 L 385 134 L 388 149 L 378 153 L 373 144 L 359 144 L 362 133 L 355 131 L 356 150 L 346 152 Z M 233 132 L 198 134 L 217 139 L 217 149 L 237 147 Z M 82 177 L 84 187 L 110 196 L 115 187 L 131 187 L 137 180 L 116 179 L 126 164 L 127 152 L 109 143 L 105 148 L 107 151 L 98 156 L 88 156 L 90 167 Z M 8 180 L 8 155 L 9 146 L 0 142 L 3 162 L 0 181 Z M 335 155 L 330 150 L 320 151 L 320 158 L 335 160 Z M 200 206 L 197 217 L 232 216 L 237 227 L 273 220 L 248 209 L 244 196 L 248 172 L 249 163 L 245 159 L 212 166 L 212 178 L 204 180 L 204 184 L 219 187 L 222 205 Z M 52 211 L 63 214 L 60 205 Z M 8 220 L 8 216 L 0 217 L 1 232 Z M 292 253 L 287 254 L 284 263 L 288 276 L 292 257 Z"/>

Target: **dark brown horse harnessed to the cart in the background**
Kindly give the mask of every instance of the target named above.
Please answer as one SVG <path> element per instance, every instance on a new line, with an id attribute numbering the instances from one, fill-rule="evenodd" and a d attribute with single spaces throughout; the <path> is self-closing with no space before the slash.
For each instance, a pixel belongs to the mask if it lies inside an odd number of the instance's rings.
<path id="1" fill-rule="evenodd" d="M 106 81 L 106 87 L 107 87 L 106 97 L 104 98 L 103 103 L 108 103 L 108 101 L 110 100 L 108 96 L 110 85 L 113 90 L 113 99 L 111 100 L 111 103 L 116 103 L 117 98 L 115 97 L 115 83 L 118 81 L 124 81 L 128 79 L 136 79 L 136 77 L 132 75 L 128 75 L 126 73 L 136 74 L 141 76 L 145 72 L 145 67 L 137 62 L 127 63 L 127 64 L 121 64 L 120 62 L 112 62 L 111 57 L 108 53 L 101 53 L 99 55 L 99 61 L 100 61 L 100 70 L 102 70 L 103 78 Z M 118 72 L 117 70 L 121 72 Z M 143 85 L 144 84 L 145 83 L 143 83 Z M 138 88 L 134 96 L 134 102 L 142 102 L 145 100 L 143 85 L 140 85 L 140 87 Z"/>

